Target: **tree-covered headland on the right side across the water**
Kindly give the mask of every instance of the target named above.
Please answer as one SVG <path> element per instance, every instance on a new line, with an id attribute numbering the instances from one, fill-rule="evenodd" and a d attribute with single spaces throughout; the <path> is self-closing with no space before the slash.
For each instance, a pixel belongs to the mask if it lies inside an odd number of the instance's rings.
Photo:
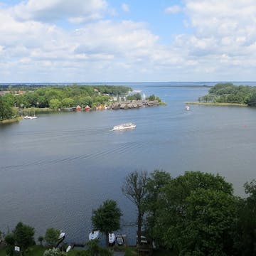
<path id="1" fill-rule="evenodd" d="M 256 87 L 218 83 L 210 88 L 208 95 L 198 98 L 199 102 L 238 103 L 256 106 Z"/>

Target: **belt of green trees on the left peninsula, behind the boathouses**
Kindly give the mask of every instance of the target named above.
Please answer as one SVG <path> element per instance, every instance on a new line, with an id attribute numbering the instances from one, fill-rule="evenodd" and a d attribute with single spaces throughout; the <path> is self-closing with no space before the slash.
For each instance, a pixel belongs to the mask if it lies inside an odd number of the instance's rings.
<path id="1" fill-rule="evenodd" d="M 1 90 L 4 90 L 3 87 Z M 7 92 L 2 96 L 1 104 L 9 107 L 85 107 L 105 104 L 110 97 L 122 97 L 127 95 L 132 88 L 114 85 L 47 85 L 47 86 L 20 86 L 7 87 Z M 7 102 L 7 103 L 6 103 Z M 6 106 L 6 105 L 5 105 Z M 5 107 L 6 108 L 6 107 Z M 1 113 L 0 113 L 1 117 Z"/>

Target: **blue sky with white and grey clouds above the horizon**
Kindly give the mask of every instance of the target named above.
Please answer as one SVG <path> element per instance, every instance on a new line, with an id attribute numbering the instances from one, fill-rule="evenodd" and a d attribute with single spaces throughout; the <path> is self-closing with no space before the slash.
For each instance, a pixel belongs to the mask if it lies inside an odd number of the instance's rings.
<path id="1" fill-rule="evenodd" d="M 0 0 L 0 83 L 255 81 L 255 70 L 255 0 Z"/>

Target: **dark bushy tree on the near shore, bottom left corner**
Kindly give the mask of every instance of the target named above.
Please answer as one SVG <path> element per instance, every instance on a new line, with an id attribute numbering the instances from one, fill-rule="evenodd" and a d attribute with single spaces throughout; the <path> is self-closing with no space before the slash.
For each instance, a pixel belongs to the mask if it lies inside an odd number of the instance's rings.
<path id="1" fill-rule="evenodd" d="M 19 222 L 14 230 L 14 239 L 16 245 L 21 248 L 22 255 L 25 254 L 25 250 L 35 243 L 33 235 L 35 234 L 34 228 L 29 225 L 25 225 Z"/>

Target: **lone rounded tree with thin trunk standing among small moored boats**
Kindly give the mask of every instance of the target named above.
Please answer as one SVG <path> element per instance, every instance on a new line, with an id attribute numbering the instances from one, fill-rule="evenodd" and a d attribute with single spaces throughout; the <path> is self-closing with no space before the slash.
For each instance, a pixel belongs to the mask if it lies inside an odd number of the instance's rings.
<path id="1" fill-rule="evenodd" d="M 119 230 L 121 216 L 121 210 L 113 200 L 107 200 L 97 210 L 92 210 L 92 225 L 96 230 L 105 233 L 106 245 L 108 244 L 108 234 Z"/>

